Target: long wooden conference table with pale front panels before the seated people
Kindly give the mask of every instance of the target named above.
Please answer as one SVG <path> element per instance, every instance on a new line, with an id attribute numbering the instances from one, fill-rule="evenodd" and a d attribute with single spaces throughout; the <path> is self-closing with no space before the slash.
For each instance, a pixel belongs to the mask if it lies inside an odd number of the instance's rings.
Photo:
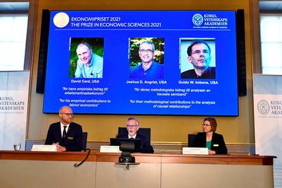
<path id="1" fill-rule="evenodd" d="M 0 187 L 274 187 L 275 156 L 0 151 Z M 82 163 L 81 163 L 82 162 Z"/>

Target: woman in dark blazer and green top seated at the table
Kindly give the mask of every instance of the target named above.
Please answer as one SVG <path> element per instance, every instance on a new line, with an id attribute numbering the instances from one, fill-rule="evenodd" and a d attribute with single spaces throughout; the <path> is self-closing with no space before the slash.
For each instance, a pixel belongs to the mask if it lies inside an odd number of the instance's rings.
<path id="1" fill-rule="evenodd" d="M 203 132 L 198 132 L 192 147 L 208 148 L 209 154 L 227 154 L 225 139 L 222 134 L 216 133 L 216 126 L 214 117 L 206 117 L 203 121 Z"/>

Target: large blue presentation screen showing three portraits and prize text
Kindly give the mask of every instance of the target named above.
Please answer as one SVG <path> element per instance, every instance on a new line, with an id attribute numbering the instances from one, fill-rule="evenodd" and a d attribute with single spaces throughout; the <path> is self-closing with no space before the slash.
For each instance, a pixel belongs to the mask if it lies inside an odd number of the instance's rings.
<path id="1" fill-rule="evenodd" d="M 51 11 L 43 113 L 238 116 L 235 11 Z"/>

